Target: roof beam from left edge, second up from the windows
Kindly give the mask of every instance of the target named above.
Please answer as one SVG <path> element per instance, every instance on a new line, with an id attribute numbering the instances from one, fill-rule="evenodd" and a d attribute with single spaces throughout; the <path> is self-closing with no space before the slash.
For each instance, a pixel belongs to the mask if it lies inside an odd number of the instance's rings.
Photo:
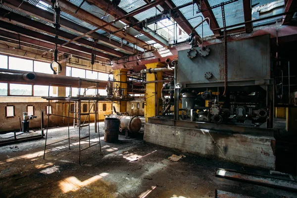
<path id="1" fill-rule="evenodd" d="M 0 8 L 0 13 L 8 13 L 9 11 L 8 10 L 5 10 L 5 9 L 2 9 Z M 8 15 L 6 15 L 8 17 Z M 35 21 L 35 20 L 31 20 L 29 18 L 26 18 L 26 17 L 23 17 L 22 15 L 19 15 L 19 14 L 16 14 L 16 13 L 10 13 L 9 14 L 9 19 L 4 19 L 5 21 L 7 22 L 11 22 L 11 23 L 17 23 L 21 26 L 24 26 L 24 27 L 28 27 L 30 29 L 34 29 L 35 31 L 37 32 L 45 32 L 47 34 L 50 34 L 52 36 L 55 36 L 55 29 L 49 25 L 46 25 L 46 24 L 43 24 L 41 22 L 38 22 L 38 21 Z M 1 26 L 5 29 L 7 29 L 6 26 Z M 71 39 L 74 39 L 76 36 L 73 35 L 73 34 L 70 34 L 68 32 L 64 32 L 64 31 L 61 31 L 59 30 L 58 31 L 58 36 L 59 38 L 63 38 L 63 39 L 66 39 L 66 40 L 71 40 Z M 93 42 L 92 41 L 89 41 L 87 39 L 78 39 L 76 40 L 76 42 L 74 43 L 78 43 L 80 45 L 83 45 L 83 46 L 88 46 L 88 47 L 93 47 Z M 97 44 L 96 45 L 96 48 L 101 51 L 101 52 L 105 52 L 105 53 L 108 53 L 110 55 L 113 55 L 113 56 L 118 56 L 118 57 L 122 57 L 124 56 L 125 54 L 120 52 L 120 51 L 117 51 L 117 50 L 114 50 L 114 49 L 110 49 L 106 46 L 102 46 L 100 44 Z"/>

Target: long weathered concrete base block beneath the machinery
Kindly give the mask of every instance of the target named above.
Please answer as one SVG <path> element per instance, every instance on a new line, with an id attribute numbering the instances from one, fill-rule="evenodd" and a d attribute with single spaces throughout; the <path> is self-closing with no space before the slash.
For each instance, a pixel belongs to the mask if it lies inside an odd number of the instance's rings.
<path id="1" fill-rule="evenodd" d="M 145 124 L 144 140 L 203 157 L 275 169 L 275 139 L 160 124 Z"/>

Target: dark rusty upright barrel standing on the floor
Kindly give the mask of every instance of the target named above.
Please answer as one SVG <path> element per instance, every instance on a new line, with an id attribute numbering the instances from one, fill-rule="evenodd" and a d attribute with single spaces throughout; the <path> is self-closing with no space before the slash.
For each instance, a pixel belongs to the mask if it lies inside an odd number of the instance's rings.
<path id="1" fill-rule="evenodd" d="M 104 119 L 104 141 L 113 143 L 119 140 L 120 120 L 118 118 L 107 117 Z"/>

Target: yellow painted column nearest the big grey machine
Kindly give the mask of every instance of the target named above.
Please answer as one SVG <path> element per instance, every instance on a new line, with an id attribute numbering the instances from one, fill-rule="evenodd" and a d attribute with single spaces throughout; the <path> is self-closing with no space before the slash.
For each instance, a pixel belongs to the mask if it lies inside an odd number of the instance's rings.
<path id="1" fill-rule="evenodd" d="M 155 62 L 146 64 L 147 69 L 164 67 L 164 64 Z M 147 81 L 162 80 L 162 72 L 147 74 Z M 162 103 L 159 104 L 159 99 L 161 99 L 161 89 L 163 83 L 147 83 L 146 85 L 146 105 L 145 105 L 145 117 L 146 122 L 148 122 L 148 117 L 153 117 L 158 115 L 159 111 L 162 109 Z"/>

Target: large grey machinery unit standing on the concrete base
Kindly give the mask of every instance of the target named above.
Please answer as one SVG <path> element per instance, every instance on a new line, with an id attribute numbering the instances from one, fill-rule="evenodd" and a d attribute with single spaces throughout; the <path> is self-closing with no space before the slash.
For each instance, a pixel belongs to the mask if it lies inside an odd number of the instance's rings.
<path id="1" fill-rule="evenodd" d="M 225 63 L 224 44 L 178 51 L 174 100 L 162 97 L 164 108 L 174 103 L 175 120 L 272 128 L 269 35 L 228 42 L 227 54 Z"/>

